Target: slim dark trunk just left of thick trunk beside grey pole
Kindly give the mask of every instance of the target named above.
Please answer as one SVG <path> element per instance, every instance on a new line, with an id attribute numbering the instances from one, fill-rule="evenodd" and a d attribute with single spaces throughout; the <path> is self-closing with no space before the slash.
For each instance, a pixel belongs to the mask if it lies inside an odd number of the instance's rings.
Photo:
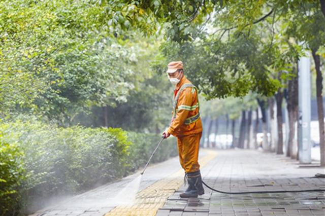
<path id="1" fill-rule="evenodd" d="M 278 89 L 278 92 L 275 94 L 276 99 L 276 117 L 277 117 L 277 124 L 278 124 L 278 145 L 276 149 L 276 154 L 282 155 L 283 154 L 283 130 L 282 130 L 282 99 L 283 99 L 283 92 L 281 88 Z"/>

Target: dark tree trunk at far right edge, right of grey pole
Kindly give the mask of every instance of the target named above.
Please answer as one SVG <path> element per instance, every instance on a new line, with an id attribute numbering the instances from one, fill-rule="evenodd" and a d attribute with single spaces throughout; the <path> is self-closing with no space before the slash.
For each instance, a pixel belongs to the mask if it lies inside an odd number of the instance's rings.
<path id="1" fill-rule="evenodd" d="M 324 5 L 323 5 L 324 6 Z M 325 6 L 324 6 L 325 7 Z M 318 115 L 318 129 L 319 129 L 319 147 L 320 147 L 320 166 L 325 166 L 325 134 L 324 134 L 324 113 L 322 100 L 322 74 L 320 71 L 320 59 L 316 54 L 317 50 L 312 50 L 312 55 L 315 61 L 316 68 L 316 98 L 317 98 L 317 115 Z"/>

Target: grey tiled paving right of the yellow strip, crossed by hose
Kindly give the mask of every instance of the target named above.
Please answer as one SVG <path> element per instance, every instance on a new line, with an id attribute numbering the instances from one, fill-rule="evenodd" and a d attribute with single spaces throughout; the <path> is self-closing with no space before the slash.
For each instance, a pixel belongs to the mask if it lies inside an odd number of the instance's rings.
<path id="1" fill-rule="evenodd" d="M 325 189 L 324 168 L 300 166 L 298 161 L 254 150 L 217 151 L 201 169 L 203 181 L 221 191 L 291 191 Z M 185 187 L 180 188 L 184 190 Z M 211 191 L 181 199 L 176 192 L 156 215 L 325 215 L 324 192 L 229 195 Z"/>

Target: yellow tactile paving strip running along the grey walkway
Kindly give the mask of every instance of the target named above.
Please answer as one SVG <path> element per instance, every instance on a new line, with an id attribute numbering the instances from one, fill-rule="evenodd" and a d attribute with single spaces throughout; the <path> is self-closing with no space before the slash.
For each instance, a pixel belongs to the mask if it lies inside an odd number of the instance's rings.
<path id="1" fill-rule="evenodd" d="M 209 161 L 216 157 L 216 152 L 211 150 L 204 150 L 205 155 L 199 162 L 201 168 Z M 167 198 L 175 193 L 175 191 L 182 186 L 184 170 L 180 169 L 167 178 L 161 179 L 149 187 L 138 192 L 136 200 L 133 205 L 116 206 L 105 216 L 132 216 L 132 215 L 156 215 L 159 208 L 163 207 Z"/>

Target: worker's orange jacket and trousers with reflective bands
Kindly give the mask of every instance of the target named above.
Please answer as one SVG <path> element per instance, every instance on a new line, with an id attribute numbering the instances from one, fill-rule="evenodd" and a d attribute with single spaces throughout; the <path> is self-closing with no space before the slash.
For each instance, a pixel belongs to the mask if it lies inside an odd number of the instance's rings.
<path id="1" fill-rule="evenodd" d="M 192 87 L 184 88 L 184 84 Z M 200 169 L 199 146 L 202 136 L 199 97 L 197 89 L 185 76 L 174 90 L 173 106 L 173 118 L 167 132 L 177 137 L 179 161 L 185 172 L 198 171 Z"/>

